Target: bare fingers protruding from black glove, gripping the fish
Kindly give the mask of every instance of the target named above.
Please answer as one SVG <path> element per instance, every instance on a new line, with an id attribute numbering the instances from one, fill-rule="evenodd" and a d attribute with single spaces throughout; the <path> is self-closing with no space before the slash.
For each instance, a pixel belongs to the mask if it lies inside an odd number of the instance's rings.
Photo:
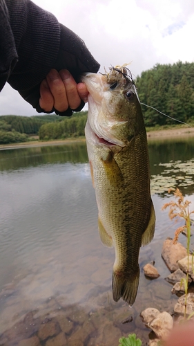
<path id="1" fill-rule="evenodd" d="M 84 83 L 76 83 L 68 70 L 59 72 L 51 69 L 46 79 L 40 84 L 39 105 L 46 112 L 55 108 L 64 112 L 68 108 L 76 110 L 81 100 L 87 102 L 88 90 Z"/>

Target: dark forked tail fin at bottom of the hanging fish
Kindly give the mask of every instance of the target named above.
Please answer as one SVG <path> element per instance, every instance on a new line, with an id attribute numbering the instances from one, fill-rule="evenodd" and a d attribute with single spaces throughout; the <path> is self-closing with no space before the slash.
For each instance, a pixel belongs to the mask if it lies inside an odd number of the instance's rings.
<path id="1" fill-rule="evenodd" d="M 132 307 L 137 295 L 137 289 L 139 285 L 139 268 L 135 276 L 131 277 L 127 275 L 117 275 L 113 271 L 112 287 L 113 287 L 113 299 L 117 302 L 120 298 L 123 298 L 125 302 Z"/>

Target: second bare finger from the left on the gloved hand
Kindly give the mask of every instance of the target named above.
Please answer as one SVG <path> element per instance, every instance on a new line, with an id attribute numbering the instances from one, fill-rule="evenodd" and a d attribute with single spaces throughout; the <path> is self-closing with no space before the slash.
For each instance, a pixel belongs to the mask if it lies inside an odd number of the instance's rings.
<path id="1" fill-rule="evenodd" d="M 61 80 L 61 77 L 57 70 L 50 70 L 50 72 L 46 76 L 46 80 L 54 99 L 55 109 L 61 112 L 66 111 L 66 109 L 68 109 L 66 87 L 64 85 L 64 82 Z"/>

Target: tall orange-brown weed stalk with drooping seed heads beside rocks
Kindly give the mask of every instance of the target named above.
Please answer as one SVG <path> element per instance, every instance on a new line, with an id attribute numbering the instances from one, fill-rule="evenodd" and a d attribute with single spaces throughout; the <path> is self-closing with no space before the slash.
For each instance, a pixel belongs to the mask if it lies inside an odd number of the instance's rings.
<path id="1" fill-rule="evenodd" d="M 187 295 L 188 295 L 188 272 L 189 272 L 189 263 L 190 263 L 190 241 L 191 241 L 191 214 L 194 214 L 194 210 L 189 210 L 189 204 L 191 201 L 187 201 L 184 199 L 182 192 L 177 189 L 170 188 L 168 193 L 173 191 L 175 199 L 177 201 L 171 201 L 169 203 L 164 204 L 162 210 L 166 208 L 170 208 L 168 216 L 171 220 L 179 219 L 180 217 L 185 220 L 185 225 L 177 228 L 175 231 L 175 237 L 173 239 L 173 243 L 176 244 L 180 233 L 186 232 L 186 251 L 187 251 L 187 271 L 186 271 L 186 279 L 181 280 L 181 285 L 184 283 L 184 291 L 185 291 L 185 304 L 184 304 L 184 319 L 186 319 L 186 304 L 187 304 Z M 193 269 L 193 255 L 192 255 L 192 269 Z M 193 271 L 194 273 L 194 271 Z M 192 314 L 193 316 L 193 314 Z M 191 316 L 188 316 L 191 318 Z"/>

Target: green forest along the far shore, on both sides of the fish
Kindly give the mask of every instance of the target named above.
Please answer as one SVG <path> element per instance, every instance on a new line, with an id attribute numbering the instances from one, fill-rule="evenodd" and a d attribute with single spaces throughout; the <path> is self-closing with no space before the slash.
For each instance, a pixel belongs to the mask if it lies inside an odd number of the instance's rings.
<path id="1" fill-rule="evenodd" d="M 182 122 L 194 122 L 194 63 L 156 64 L 137 76 L 135 84 L 147 129 L 178 123 L 150 107 Z M 86 119 L 87 111 L 71 117 L 1 116 L 0 144 L 31 140 L 38 134 L 40 140 L 84 136 Z"/>

